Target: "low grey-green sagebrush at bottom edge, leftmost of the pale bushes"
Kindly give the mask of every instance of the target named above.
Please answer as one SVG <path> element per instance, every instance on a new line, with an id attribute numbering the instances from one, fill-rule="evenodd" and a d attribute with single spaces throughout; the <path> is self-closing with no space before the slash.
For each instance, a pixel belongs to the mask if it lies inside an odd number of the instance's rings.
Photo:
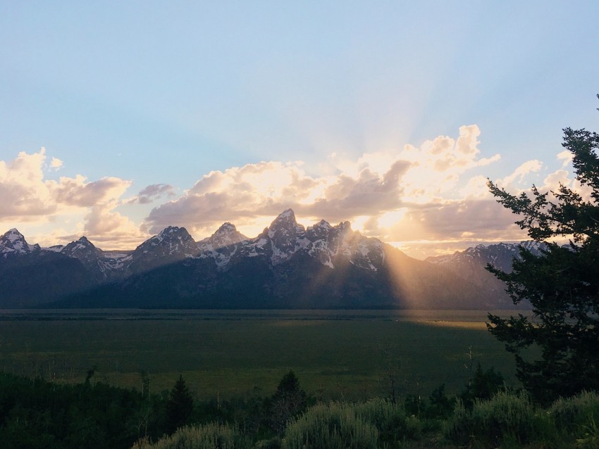
<path id="1" fill-rule="evenodd" d="M 185 426 L 171 436 L 165 436 L 156 443 L 147 438 L 137 441 L 132 449 L 246 449 L 249 439 L 235 427 L 228 424 L 204 424 Z"/>

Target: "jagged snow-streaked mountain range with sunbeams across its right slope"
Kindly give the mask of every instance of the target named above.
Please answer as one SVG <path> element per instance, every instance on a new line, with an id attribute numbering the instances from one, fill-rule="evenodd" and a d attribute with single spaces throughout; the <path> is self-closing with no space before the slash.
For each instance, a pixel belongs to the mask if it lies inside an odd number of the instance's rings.
<path id="1" fill-rule="evenodd" d="M 290 209 L 252 239 L 228 222 L 201 241 L 167 227 L 133 251 L 85 236 L 42 248 L 11 229 L 0 308 L 514 308 L 484 267 L 509 271 L 518 254 L 497 244 L 416 260 L 349 222 L 304 228 Z"/>

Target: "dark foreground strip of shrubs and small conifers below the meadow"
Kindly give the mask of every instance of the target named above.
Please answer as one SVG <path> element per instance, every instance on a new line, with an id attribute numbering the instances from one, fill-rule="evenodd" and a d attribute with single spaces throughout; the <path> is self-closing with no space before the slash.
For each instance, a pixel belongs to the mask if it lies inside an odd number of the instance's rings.
<path id="1" fill-rule="evenodd" d="M 474 371 L 459 395 L 316 403 L 293 372 L 272 395 L 194 401 L 183 377 L 149 394 L 91 381 L 56 384 L 0 374 L 0 442 L 11 448 L 599 447 L 599 396 L 541 407 Z"/>

